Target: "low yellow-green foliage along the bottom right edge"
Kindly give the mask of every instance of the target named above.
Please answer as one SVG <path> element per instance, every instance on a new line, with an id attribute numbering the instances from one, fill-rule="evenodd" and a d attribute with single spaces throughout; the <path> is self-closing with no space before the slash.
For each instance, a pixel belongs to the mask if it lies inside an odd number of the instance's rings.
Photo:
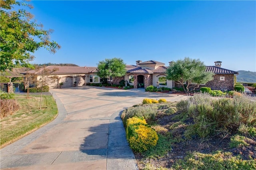
<path id="1" fill-rule="evenodd" d="M 193 152 L 184 160 L 178 160 L 172 167 L 175 170 L 253 170 L 256 169 L 255 160 L 242 160 L 239 156 L 233 156 L 231 152 L 204 154 Z"/>

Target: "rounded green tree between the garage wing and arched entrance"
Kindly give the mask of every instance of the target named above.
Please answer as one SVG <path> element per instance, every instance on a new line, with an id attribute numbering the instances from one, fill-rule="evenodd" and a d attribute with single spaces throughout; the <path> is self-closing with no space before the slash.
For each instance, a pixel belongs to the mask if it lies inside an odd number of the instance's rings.
<path id="1" fill-rule="evenodd" d="M 105 59 L 105 61 L 100 61 L 98 63 L 98 76 L 102 78 L 108 78 L 112 76 L 113 80 L 116 77 L 121 77 L 126 74 L 126 65 L 124 61 L 120 58 Z M 112 82 L 111 82 L 112 84 Z"/>

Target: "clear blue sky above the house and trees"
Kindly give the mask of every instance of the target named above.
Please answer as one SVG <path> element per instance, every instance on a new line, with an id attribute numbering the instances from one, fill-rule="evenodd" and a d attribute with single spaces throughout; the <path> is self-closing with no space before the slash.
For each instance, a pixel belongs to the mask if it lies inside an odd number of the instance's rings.
<path id="1" fill-rule="evenodd" d="M 97 66 L 113 57 L 256 71 L 256 1 L 31 1 L 30 10 L 62 48 L 32 63 Z"/>

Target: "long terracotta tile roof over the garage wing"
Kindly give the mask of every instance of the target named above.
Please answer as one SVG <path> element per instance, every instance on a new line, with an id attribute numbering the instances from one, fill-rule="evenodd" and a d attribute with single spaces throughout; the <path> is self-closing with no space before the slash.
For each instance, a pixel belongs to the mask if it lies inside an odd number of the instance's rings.
<path id="1" fill-rule="evenodd" d="M 79 67 L 79 66 L 48 66 L 46 69 L 52 71 L 52 74 L 85 74 L 95 72 L 97 67 Z M 42 70 L 37 71 L 35 74 L 42 74 Z"/>

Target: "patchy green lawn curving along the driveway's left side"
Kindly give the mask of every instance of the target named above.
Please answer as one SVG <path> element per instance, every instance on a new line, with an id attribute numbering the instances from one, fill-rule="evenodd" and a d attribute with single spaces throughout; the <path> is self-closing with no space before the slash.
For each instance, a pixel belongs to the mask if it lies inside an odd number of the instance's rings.
<path id="1" fill-rule="evenodd" d="M 42 109 L 39 109 L 40 96 L 31 95 L 26 99 L 24 95 L 15 95 L 20 109 L 1 119 L 0 121 L 0 148 L 32 133 L 46 125 L 58 115 L 58 109 L 52 96 L 42 96 Z"/>

